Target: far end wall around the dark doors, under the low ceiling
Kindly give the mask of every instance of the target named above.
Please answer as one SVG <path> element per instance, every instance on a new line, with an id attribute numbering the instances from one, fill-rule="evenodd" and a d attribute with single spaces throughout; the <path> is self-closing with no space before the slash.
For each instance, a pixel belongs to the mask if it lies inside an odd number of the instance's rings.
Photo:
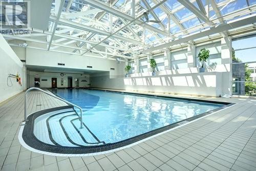
<path id="1" fill-rule="evenodd" d="M 79 87 L 89 87 L 90 75 L 88 74 L 70 74 L 63 73 L 64 76 L 60 76 L 60 73 L 48 73 L 48 72 L 33 72 L 29 71 L 29 87 L 34 87 L 34 78 L 40 78 L 40 88 L 52 88 L 52 78 L 57 78 L 57 88 L 68 88 L 68 77 L 72 77 L 72 86 L 75 87 L 75 78 L 79 79 Z M 61 78 L 63 78 L 63 86 L 61 86 Z M 47 79 L 47 81 L 42 81 Z M 87 80 L 87 82 L 82 81 Z"/>

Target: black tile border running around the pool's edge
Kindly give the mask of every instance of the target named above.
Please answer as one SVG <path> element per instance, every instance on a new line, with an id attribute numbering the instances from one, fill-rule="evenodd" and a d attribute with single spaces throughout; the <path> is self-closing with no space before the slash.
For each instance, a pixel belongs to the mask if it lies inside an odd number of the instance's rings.
<path id="1" fill-rule="evenodd" d="M 99 90 L 99 91 L 104 91 L 104 90 Z M 115 92 L 115 91 L 108 91 L 108 92 Z M 122 93 L 122 92 L 119 92 Z M 137 93 L 125 93 L 125 94 L 134 94 L 134 95 L 143 95 L 147 96 L 145 94 L 137 94 Z M 173 97 L 166 97 L 166 96 L 155 96 L 155 95 L 148 95 L 148 96 L 153 96 L 153 97 L 163 97 L 163 98 L 173 98 Z M 160 127 L 159 129 L 126 139 L 122 140 L 119 142 L 115 143 L 108 143 L 108 144 L 102 144 L 102 145 L 92 145 L 92 146 L 80 146 L 80 147 L 70 147 L 70 146 L 56 146 L 56 145 L 51 145 L 47 144 L 44 142 L 41 142 L 38 140 L 35 135 L 34 135 L 34 120 L 44 114 L 58 111 L 58 110 L 63 110 L 63 109 L 73 109 L 73 106 L 60 106 L 57 108 L 51 108 L 51 109 L 46 109 L 42 111 L 35 112 L 28 117 L 28 121 L 26 122 L 24 126 L 24 130 L 22 133 L 22 138 L 24 142 L 29 145 L 32 148 L 35 148 L 39 151 L 44 151 L 44 152 L 49 152 L 49 153 L 58 153 L 58 154 L 89 154 L 89 153 L 98 153 L 98 152 L 104 152 L 104 151 L 109 151 L 112 149 L 116 149 L 119 147 L 123 147 L 126 145 L 130 145 L 132 143 L 135 143 L 137 141 L 143 140 L 145 138 L 151 137 L 153 135 L 159 134 L 161 132 L 167 131 L 169 129 L 172 129 L 176 126 L 182 125 L 184 123 L 187 123 L 189 121 L 193 121 L 195 119 L 201 118 L 203 116 L 207 116 L 209 114 L 212 114 L 214 112 L 217 112 L 219 110 L 225 109 L 235 103 L 228 103 L 228 102 L 218 102 L 218 101 L 208 101 L 208 100 L 197 100 L 197 99 L 189 99 L 189 98 L 179 98 L 179 97 L 174 97 L 173 99 L 180 99 L 180 100 L 189 100 L 189 101 L 198 101 L 198 102 L 208 102 L 208 103 L 215 103 L 215 104 L 224 104 L 220 108 L 217 108 L 215 110 L 205 112 L 181 121 L 178 121 L 173 124 L 169 124 L 163 127 Z"/>

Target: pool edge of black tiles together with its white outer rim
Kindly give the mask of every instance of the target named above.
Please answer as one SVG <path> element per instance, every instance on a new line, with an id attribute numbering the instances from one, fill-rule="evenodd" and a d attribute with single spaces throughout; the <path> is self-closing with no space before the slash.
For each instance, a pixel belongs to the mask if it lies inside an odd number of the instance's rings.
<path id="1" fill-rule="evenodd" d="M 102 90 L 103 91 L 103 90 Z M 111 92 L 111 91 L 110 91 Z M 119 92 L 120 93 L 120 92 Z M 137 93 L 128 93 L 128 94 L 137 94 Z M 145 94 L 142 94 L 144 96 L 146 96 Z M 151 96 L 155 96 L 155 95 L 151 95 Z M 157 97 L 161 97 L 161 96 L 157 96 Z M 166 97 L 166 96 L 162 96 L 162 97 Z M 172 98 L 172 97 L 169 97 Z M 182 99 L 182 100 L 193 100 L 193 101 L 199 101 L 197 99 L 188 99 L 188 98 L 177 98 L 177 99 Z M 200 100 L 199 102 L 210 102 L 212 103 L 212 101 L 209 100 Z M 218 102 L 215 101 L 215 103 L 218 104 L 223 104 L 225 103 L 225 105 L 215 109 L 215 110 L 211 110 L 181 121 L 178 121 L 176 123 L 172 123 L 163 127 L 160 127 L 159 129 L 156 130 L 152 130 L 150 132 L 126 139 L 126 140 L 122 140 L 119 142 L 115 142 L 115 143 L 109 143 L 109 144 L 103 144 L 103 145 L 97 145 L 97 146 L 86 146 L 86 147 L 67 147 L 67 146 L 55 146 L 55 145 L 50 145 L 50 144 L 46 144 L 44 142 L 39 141 L 33 133 L 33 128 L 34 128 L 34 120 L 41 116 L 44 115 L 46 113 L 49 112 L 53 112 L 53 111 L 57 111 L 57 110 L 62 110 L 62 109 L 68 109 L 68 108 L 73 108 L 73 106 L 60 106 L 57 108 L 51 108 L 51 109 L 46 109 L 46 110 L 41 110 L 38 112 L 34 112 L 33 114 L 31 114 L 29 116 L 29 121 L 26 122 L 25 125 L 23 125 L 23 130 L 22 130 L 22 140 L 24 141 L 24 143 L 26 145 L 28 145 L 29 147 L 35 149 L 36 151 L 40 151 L 40 153 L 52 153 L 54 154 L 54 156 L 58 156 L 58 154 L 60 156 L 63 155 L 68 155 L 68 156 L 87 156 L 87 155 L 94 155 L 94 154 L 102 154 L 102 153 L 109 153 L 111 151 L 116 151 L 119 150 L 120 148 L 126 148 L 132 144 L 137 144 L 140 143 L 141 141 L 145 141 L 146 139 L 150 139 L 153 138 L 155 136 L 158 136 L 159 134 L 163 134 L 164 132 L 168 132 L 171 131 L 173 129 L 177 129 L 180 126 L 183 126 L 185 124 L 191 123 L 193 121 L 196 121 L 198 119 L 201 119 L 203 117 L 206 117 L 208 115 L 214 114 L 216 112 L 219 112 L 221 110 L 227 109 L 230 106 L 234 105 L 235 103 L 228 103 L 228 102 Z M 20 129 L 21 130 L 21 129 Z"/>

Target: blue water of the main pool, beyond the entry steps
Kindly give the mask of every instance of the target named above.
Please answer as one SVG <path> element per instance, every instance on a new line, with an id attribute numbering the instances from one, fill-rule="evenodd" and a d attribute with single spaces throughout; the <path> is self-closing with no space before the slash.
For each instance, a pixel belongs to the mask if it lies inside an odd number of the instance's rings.
<path id="1" fill-rule="evenodd" d="M 105 143 L 125 140 L 222 106 L 95 90 L 57 89 L 54 93 L 80 106 L 83 122 Z M 79 127 L 78 120 L 74 123 Z"/>

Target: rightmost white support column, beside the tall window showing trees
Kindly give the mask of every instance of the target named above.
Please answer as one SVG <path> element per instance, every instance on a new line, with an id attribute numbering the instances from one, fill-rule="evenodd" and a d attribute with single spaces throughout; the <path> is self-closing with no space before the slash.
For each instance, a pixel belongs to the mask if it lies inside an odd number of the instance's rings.
<path id="1" fill-rule="evenodd" d="M 221 38 L 221 63 L 226 72 L 222 73 L 222 93 L 232 95 L 232 39 L 229 36 Z M 229 81 L 227 81 L 229 80 Z"/>

